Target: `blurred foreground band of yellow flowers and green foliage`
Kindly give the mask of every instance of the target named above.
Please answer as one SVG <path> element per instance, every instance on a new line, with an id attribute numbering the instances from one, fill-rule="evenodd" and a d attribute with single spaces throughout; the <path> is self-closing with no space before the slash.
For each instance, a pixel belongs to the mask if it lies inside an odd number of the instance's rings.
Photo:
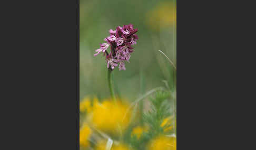
<path id="1" fill-rule="evenodd" d="M 81 149 L 104 149 L 108 139 L 113 141 L 112 150 L 175 149 L 176 120 L 170 109 L 171 99 L 168 89 L 153 92 L 150 109 L 143 113 L 140 122 L 140 108 L 136 106 L 139 102 L 133 106 L 120 98 L 102 102 L 85 98 L 80 103 Z"/>

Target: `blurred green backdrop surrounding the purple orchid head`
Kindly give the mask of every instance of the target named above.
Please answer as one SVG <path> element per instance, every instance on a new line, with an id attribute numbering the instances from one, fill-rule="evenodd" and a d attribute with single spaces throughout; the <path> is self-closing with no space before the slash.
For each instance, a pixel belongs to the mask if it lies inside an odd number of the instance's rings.
<path id="1" fill-rule="evenodd" d="M 176 2 L 175 2 L 176 3 Z M 175 87 L 175 72 L 162 50 L 176 66 L 176 4 L 174 1 L 80 1 L 80 100 L 109 98 L 107 68 L 102 54 L 93 56 L 109 30 L 133 24 L 139 36 L 125 71 L 113 71 L 115 93 L 133 101 L 140 94 Z M 118 87 L 118 88 L 117 88 Z"/>

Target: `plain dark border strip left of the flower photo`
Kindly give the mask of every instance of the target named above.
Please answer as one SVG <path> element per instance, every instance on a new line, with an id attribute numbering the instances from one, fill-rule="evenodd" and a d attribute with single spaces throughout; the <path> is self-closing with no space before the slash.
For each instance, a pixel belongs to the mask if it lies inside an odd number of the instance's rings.
<path id="1" fill-rule="evenodd" d="M 3 2 L 0 149 L 78 150 L 80 1 Z"/>

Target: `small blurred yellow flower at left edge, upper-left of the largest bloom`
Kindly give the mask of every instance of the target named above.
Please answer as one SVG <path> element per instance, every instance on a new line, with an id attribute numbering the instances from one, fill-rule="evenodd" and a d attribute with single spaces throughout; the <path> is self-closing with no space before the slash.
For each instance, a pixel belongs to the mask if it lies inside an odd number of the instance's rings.
<path id="1" fill-rule="evenodd" d="M 98 99 L 94 98 L 93 103 L 90 101 L 89 97 L 85 97 L 80 102 L 80 112 L 90 113 L 93 110 L 93 107 L 98 103 Z"/>

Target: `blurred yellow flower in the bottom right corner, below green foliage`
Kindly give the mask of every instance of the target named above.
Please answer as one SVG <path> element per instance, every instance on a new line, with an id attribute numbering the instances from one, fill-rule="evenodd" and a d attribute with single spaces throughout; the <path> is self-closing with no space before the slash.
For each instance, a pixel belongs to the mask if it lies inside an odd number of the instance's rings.
<path id="1" fill-rule="evenodd" d="M 176 150 L 176 138 L 161 135 L 153 139 L 149 145 L 149 150 Z"/>

